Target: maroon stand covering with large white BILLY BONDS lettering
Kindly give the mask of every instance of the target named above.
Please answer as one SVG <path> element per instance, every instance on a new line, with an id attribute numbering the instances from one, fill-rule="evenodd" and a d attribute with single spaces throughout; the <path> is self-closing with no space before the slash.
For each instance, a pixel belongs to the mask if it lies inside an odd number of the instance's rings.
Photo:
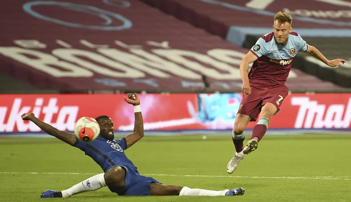
<path id="1" fill-rule="evenodd" d="M 141 1 L 1 1 L 0 17 L 0 73 L 38 88 L 241 90 L 248 49 Z M 340 89 L 297 69 L 287 85 Z"/>

